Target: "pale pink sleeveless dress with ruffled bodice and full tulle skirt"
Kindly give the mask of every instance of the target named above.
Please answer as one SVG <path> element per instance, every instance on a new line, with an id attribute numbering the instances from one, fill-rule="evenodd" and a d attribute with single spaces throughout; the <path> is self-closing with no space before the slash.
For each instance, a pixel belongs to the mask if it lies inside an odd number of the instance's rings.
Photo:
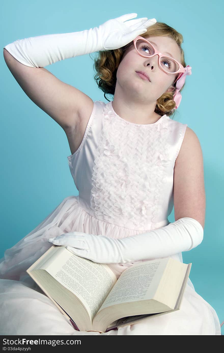
<path id="1" fill-rule="evenodd" d="M 112 102 L 94 102 L 81 145 L 67 157 L 79 196 L 66 197 L 0 259 L 1 335 L 100 335 L 75 330 L 25 271 L 52 246 L 49 238 L 66 232 L 118 239 L 168 225 L 186 126 L 166 114 L 154 124 L 134 124 Z M 183 262 L 182 253 L 171 257 Z M 108 265 L 119 278 L 138 262 Z M 180 310 L 101 335 L 220 334 L 216 311 L 188 279 Z"/>

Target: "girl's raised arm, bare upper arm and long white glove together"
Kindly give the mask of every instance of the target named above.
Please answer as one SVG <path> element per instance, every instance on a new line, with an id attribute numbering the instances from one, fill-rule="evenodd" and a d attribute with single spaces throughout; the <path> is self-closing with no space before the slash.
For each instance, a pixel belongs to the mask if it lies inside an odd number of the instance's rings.
<path id="1" fill-rule="evenodd" d="M 99 27 L 72 33 L 17 40 L 4 47 L 4 59 L 25 94 L 64 130 L 74 128 L 82 110 L 93 107 L 85 93 L 68 85 L 44 66 L 99 50 L 117 49 L 146 31 L 156 20 L 132 19 L 137 13 L 110 19 Z M 125 22 L 127 21 L 127 22 Z"/>

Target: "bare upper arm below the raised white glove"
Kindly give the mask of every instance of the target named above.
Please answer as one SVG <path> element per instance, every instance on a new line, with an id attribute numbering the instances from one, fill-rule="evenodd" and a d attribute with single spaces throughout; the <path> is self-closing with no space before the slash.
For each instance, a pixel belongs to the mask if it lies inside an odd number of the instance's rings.
<path id="1" fill-rule="evenodd" d="M 25 94 L 64 131 L 71 126 L 75 128 L 81 108 L 93 106 L 89 96 L 62 82 L 46 68 L 25 66 L 6 49 L 4 59 Z"/>

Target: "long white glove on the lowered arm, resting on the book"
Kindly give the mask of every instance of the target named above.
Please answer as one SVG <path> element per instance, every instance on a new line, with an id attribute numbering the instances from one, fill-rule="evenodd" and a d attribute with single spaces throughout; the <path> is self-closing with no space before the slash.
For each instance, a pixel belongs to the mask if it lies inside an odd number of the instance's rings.
<path id="1" fill-rule="evenodd" d="M 198 221 L 183 217 L 165 227 L 122 239 L 68 232 L 48 241 L 97 263 L 125 263 L 189 251 L 202 242 L 203 233 Z"/>

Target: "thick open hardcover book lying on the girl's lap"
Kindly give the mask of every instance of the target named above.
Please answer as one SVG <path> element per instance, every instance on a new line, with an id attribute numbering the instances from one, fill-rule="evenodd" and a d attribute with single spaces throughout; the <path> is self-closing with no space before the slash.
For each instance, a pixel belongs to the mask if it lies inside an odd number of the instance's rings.
<path id="1" fill-rule="evenodd" d="M 133 264 L 117 279 L 107 264 L 53 245 L 27 273 L 76 330 L 103 333 L 179 310 L 190 268 L 154 259 Z"/>

